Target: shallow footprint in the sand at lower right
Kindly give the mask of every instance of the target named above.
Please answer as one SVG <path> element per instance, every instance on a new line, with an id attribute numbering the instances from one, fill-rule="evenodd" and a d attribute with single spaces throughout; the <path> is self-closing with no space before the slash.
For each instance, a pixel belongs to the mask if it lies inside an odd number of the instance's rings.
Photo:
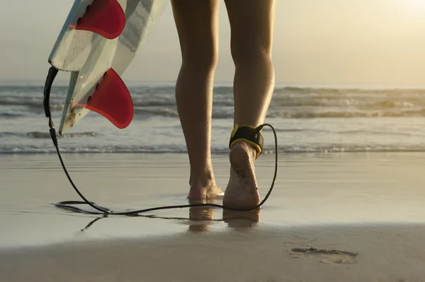
<path id="1" fill-rule="evenodd" d="M 290 252 L 297 255 L 317 255 L 320 258 L 320 262 L 325 264 L 355 264 L 355 258 L 358 255 L 355 252 L 339 251 L 337 249 L 317 249 L 314 247 L 294 248 Z"/>

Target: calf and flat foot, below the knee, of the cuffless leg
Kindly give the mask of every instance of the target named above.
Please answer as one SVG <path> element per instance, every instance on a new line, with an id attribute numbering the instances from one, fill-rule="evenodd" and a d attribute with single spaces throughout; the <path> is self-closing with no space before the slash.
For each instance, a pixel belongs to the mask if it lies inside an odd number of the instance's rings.
<path id="1" fill-rule="evenodd" d="M 183 64 L 176 83 L 176 104 L 186 139 L 191 177 L 190 199 L 222 194 L 212 171 L 210 136 L 213 73 Z"/>

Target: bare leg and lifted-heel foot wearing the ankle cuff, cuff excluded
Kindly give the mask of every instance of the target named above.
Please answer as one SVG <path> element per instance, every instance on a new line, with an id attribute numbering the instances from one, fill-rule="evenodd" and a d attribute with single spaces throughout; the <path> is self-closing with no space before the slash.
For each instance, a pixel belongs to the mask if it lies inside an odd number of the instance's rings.
<path id="1" fill-rule="evenodd" d="M 231 28 L 235 65 L 234 124 L 257 127 L 263 123 L 274 88 L 271 60 L 275 17 L 274 0 L 225 0 Z M 223 202 L 249 208 L 259 204 L 254 172 L 256 151 L 243 141 L 230 152 L 230 179 Z"/>

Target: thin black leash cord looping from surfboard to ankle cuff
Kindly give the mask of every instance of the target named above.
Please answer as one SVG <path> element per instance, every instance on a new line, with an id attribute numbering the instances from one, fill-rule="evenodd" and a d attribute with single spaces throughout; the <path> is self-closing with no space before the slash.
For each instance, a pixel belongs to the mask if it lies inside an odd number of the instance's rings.
<path id="1" fill-rule="evenodd" d="M 71 210 L 71 211 L 75 211 L 75 212 L 78 212 L 78 213 L 97 214 L 97 215 L 101 214 L 101 215 L 105 215 L 105 216 L 108 216 L 108 215 L 111 215 L 111 216 L 112 215 L 116 215 L 116 216 L 137 216 L 139 213 L 146 213 L 148 211 L 159 211 L 159 210 L 166 210 L 166 209 L 173 209 L 173 208 L 193 208 L 193 207 L 199 207 L 199 206 L 210 206 L 210 207 L 215 207 L 215 208 L 223 208 L 223 209 L 227 209 L 227 210 L 230 210 L 230 211 L 253 211 L 253 210 L 259 208 L 260 206 L 262 206 L 267 201 L 268 197 L 271 195 L 271 192 L 273 191 L 273 187 L 274 187 L 274 184 L 276 182 L 276 177 L 277 177 L 277 174 L 278 174 L 278 137 L 276 135 L 275 129 L 273 128 L 273 126 L 271 124 L 261 124 L 259 127 L 256 127 L 255 129 L 253 129 L 252 132 L 254 133 L 254 135 L 260 134 L 260 131 L 261 131 L 261 129 L 263 129 L 263 127 L 270 127 L 271 130 L 273 131 L 274 141 L 275 141 L 275 170 L 274 170 L 273 180 L 271 182 L 271 187 L 268 189 L 266 196 L 264 197 L 263 201 L 260 202 L 260 204 L 257 204 L 254 207 L 251 207 L 251 208 L 232 208 L 232 207 L 223 206 L 223 205 L 220 205 L 220 204 L 185 204 L 185 205 L 176 205 L 176 206 L 157 206 L 157 207 L 154 207 L 154 208 L 144 208 L 144 209 L 135 210 L 135 211 L 132 211 L 132 210 L 113 211 L 111 208 L 98 206 L 96 203 L 89 201 L 88 199 L 86 199 L 86 197 L 84 197 L 83 194 L 81 194 L 81 192 L 79 191 L 77 186 L 72 181 L 72 178 L 69 175 L 69 172 L 68 172 L 68 170 L 67 170 L 67 168 L 64 164 L 64 160 L 62 159 L 62 155 L 60 153 L 59 142 L 57 141 L 57 133 L 56 133 L 55 126 L 53 124 L 52 113 L 50 111 L 50 91 L 52 90 L 53 81 L 55 80 L 57 73 L 58 73 L 58 69 L 56 69 L 54 66 L 50 67 L 49 72 L 47 74 L 47 79 L 46 79 L 46 82 L 45 82 L 43 106 L 44 106 L 44 110 L 45 110 L 45 115 L 49 119 L 50 136 L 52 137 L 53 145 L 55 145 L 57 156 L 59 157 L 60 164 L 62 165 L 62 169 L 64 170 L 65 175 L 67 175 L 69 183 L 72 185 L 75 192 L 77 192 L 77 194 L 79 194 L 81 199 L 83 199 L 83 201 L 60 201 L 57 204 L 55 204 L 55 206 L 57 206 L 59 208 L 65 208 L 65 209 L 68 209 L 68 210 Z M 82 208 L 77 207 L 77 205 L 89 205 L 92 208 L 94 208 L 96 211 L 86 211 Z"/>

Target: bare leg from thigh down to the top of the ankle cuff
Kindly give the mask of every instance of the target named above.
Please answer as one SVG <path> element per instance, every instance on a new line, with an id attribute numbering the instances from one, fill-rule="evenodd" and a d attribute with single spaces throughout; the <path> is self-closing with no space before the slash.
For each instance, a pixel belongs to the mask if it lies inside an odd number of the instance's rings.
<path id="1" fill-rule="evenodd" d="M 234 122 L 263 123 L 273 94 L 274 0 L 225 0 L 232 28 Z"/>

